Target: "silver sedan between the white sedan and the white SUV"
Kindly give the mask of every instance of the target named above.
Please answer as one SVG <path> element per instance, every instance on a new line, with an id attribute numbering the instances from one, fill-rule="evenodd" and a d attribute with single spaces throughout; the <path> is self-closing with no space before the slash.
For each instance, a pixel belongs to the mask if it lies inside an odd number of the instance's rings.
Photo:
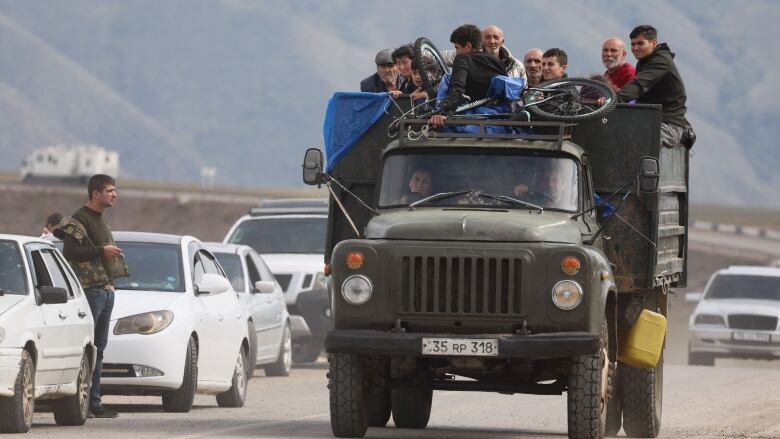
<path id="1" fill-rule="evenodd" d="M 251 247 L 215 242 L 205 244 L 217 257 L 238 293 L 239 302 L 249 314 L 249 364 L 263 366 L 269 376 L 289 375 L 292 366 L 291 320 L 302 322 L 303 319 L 300 316 L 291 318 L 282 288 Z M 249 369 L 250 377 L 254 367 Z"/>

